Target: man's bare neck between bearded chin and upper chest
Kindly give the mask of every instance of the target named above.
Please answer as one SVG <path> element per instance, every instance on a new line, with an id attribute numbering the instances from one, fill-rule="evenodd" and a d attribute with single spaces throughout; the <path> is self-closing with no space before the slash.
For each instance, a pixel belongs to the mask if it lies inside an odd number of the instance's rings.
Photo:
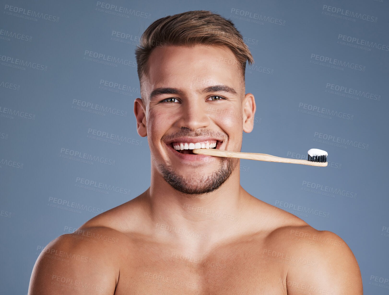
<path id="1" fill-rule="evenodd" d="M 152 167 L 151 186 L 146 200 L 157 235 L 165 234 L 163 238 L 167 237 L 167 240 L 172 235 L 183 236 L 175 240 L 188 246 L 217 243 L 237 233 L 247 210 L 245 204 L 248 195 L 240 186 L 237 167 L 239 163 L 217 190 L 196 196 L 173 189 Z"/>

